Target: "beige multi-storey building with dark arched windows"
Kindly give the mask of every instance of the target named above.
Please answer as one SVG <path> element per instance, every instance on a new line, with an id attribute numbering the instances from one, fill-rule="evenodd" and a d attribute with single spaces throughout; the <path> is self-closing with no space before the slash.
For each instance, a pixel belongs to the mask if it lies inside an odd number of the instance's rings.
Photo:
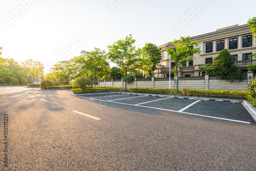
<path id="1" fill-rule="evenodd" d="M 205 63 L 211 63 L 222 49 L 229 50 L 236 60 L 236 65 L 240 70 L 246 71 L 246 67 L 254 63 L 254 60 L 252 60 L 249 55 L 256 51 L 256 38 L 251 34 L 248 25 L 234 25 L 217 29 L 215 32 L 190 37 L 190 39 L 198 42 L 202 52 L 201 54 L 194 54 L 191 56 L 196 59 L 194 59 L 193 62 L 187 62 L 186 65 L 178 69 L 180 77 L 202 76 L 203 73 L 202 70 L 200 70 L 200 67 L 203 67 Z M 168 48 L 175 49 L 175 46 L 172 42 L 168 42 L 158 48 L 162 48 L 162 60 L 158 65 L 158 69 L 154 71 L 154 76 L 158 78 L 168 78 L 169 57 L 166 50 Z M 171 60 L 171 70 L 174 66 L 175 62 Z M 174 76 L 172 71 L 170 76 Z"/>

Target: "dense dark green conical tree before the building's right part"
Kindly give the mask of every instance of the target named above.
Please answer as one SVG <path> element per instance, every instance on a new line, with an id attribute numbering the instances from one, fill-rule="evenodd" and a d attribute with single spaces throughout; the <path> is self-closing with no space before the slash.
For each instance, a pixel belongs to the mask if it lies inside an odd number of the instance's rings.
<path id="1" fill-rule="evenodd" d="M 214 58 L 212 68 L 214 68 L 213 74 L 218 75 L 220 79 L 225 79 L 230 82 L 236 80 L 241 82 L 244 80 L 242 71 L 236 67 L 236 61 L 234 61 L 227 49 L 220 51 L 219 55 Z"/>

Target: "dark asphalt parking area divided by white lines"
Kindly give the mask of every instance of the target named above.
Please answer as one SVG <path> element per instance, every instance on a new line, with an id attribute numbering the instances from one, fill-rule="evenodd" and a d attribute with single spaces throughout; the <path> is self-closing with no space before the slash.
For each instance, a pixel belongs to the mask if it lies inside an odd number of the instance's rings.
<path id="1" fill-rule="evenodd" d="M 90 100 L 119 103 L 151 108 L 152 110 L 178 112 L 185 115 L 195 115 L 219 120 L 242 123 L 255 123 L 255 120 L 244 108 L 241 102 L 210 101 L 202 99 L 182 99 L 138 94 L 104 94 L 78 96 Z"/>

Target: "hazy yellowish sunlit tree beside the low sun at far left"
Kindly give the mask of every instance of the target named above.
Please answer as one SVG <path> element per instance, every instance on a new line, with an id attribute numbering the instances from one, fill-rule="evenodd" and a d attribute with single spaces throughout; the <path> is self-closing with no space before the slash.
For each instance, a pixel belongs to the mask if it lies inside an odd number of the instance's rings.
<path id="1" fill-rule="evenodd" d="M 33 82 L 38 80 L 38 76 L 42 74 L 42 71 L 44 70 L 44 64 L 42 64 L 40 61 L 37 60 L 25 60 L 25 62 L 22 62 L 24 67 L 28 68 L 29 74 L 31 75 Z"/>

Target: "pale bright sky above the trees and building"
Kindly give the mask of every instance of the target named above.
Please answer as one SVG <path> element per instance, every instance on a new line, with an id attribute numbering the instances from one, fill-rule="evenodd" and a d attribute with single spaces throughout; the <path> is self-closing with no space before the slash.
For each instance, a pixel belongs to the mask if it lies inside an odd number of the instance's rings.
<path id="1" fill-rule="evenodd" d="M 0 0 L 2 57 L 44 63 L 45 73 L 82 50 L 132 34 L 135 46 L 157 46 L 216 29 L 244 25 L 256 1 L 220 0 Z"/>

